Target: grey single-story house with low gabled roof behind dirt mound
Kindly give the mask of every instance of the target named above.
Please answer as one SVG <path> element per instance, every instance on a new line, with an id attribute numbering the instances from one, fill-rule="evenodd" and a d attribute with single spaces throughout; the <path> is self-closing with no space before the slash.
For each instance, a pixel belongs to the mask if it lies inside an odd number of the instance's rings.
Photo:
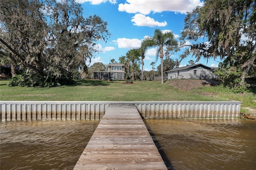
<path id="1" fill-rule="evenodd" d="M 199 63 L 177 67 L 166 71 L 166 73 L 168 74 L 168 79 L 216 79 L 216 75 L 213 74 L 214 69 Z"/>

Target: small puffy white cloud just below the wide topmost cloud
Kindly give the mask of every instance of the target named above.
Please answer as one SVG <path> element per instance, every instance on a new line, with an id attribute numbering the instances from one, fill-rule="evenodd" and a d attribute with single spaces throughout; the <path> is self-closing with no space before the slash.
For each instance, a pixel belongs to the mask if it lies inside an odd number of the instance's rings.
<path id="1" fill-rule="evenodd" d="M 167 22 L 158 22 L 155 21 L 153 18 L 150 18 L 149 16 L 145 16 L 142 14 L 135 14 L 135 16 L 132 17 L 132 22 L 134 22 L 133 25 L 136 26 L 149 26 L 149 27 L 164 27 L 167 25 Z"/>

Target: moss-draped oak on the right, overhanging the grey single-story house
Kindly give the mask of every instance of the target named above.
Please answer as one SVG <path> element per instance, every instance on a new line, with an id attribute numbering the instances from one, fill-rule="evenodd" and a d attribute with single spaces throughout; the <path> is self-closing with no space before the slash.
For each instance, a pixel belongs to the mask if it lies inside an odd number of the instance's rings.
<path id="1" fill-rule="evenodd" d="M 220 57 L 220 69 L 226 70 L 222 81 L 231 82 L 231 87 L 244 86 L 246 77 L 255 76 L 256 0 L 205 0 L 204 6 L 188 13 L 184 21 L 180 40 L 187 48 L 182 59 L 190 53 L 196 62 Z M 188 41 L 191 44 L 186 45 Z M 236 78 L 228 79 L 228 74 L 233 74 L 230 68 Z"/>

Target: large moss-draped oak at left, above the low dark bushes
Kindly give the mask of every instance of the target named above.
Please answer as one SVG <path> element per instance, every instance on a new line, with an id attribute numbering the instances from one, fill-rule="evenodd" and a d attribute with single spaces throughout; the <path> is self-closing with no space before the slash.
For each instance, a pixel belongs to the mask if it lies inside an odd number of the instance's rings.
<path id="1" fill-rule="evenodd" d="M 107 23 L 96 15 L 84 18 L 75 0 L 1 0 L 0 22 L 1 55 L 46 79 L 87 70 L 97 42 L 110 36 Z"/>

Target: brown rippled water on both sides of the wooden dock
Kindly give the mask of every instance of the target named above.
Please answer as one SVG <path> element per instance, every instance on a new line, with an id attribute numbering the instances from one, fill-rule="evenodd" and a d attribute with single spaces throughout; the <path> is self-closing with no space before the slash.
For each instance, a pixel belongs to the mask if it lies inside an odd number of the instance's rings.
<path id="1" fill-rule="evenodd" d="M 256 121 L 151 119 L 144 122 L 169 169 L 256 169 Z M 98 123 L 0 123 L 1 170 L 73 169 Z"/>

